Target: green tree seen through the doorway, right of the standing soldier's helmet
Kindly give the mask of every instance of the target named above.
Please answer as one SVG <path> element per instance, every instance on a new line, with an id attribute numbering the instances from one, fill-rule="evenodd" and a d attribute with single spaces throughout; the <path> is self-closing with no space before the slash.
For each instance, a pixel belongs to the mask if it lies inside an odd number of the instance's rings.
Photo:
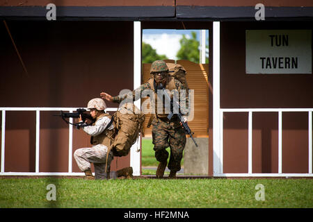
<path id="1" fill-rule="evenodd" d="M 188 39 L 186 35 L 182 35 L 182 39 L 179 40 L 180 49 L 177 51 L 177 60 L 189 60 L 191 62 L 199 63 L 200 60 L 200 43 L 197 40 L 197 33 L 191 32 L 191 39 Z M 209 47 L 207 46 L 207 49 Z M 206 58 L 209 62 L 209 59 Z"/>

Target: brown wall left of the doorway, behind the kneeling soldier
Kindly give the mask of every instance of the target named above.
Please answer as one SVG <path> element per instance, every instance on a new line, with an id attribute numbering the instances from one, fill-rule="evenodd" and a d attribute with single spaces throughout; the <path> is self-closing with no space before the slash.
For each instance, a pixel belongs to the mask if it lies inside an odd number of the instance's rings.
<path id="1" fill-rule="evenodd" d="M 86 107 L 100 92 L 133 89 L 132 22 L 7 22 L 26 69 L 0 23 L 0 107 Z M 118 107 L 117 103 L 107 103 Z M 68 126 L 40 112 L 40 171 L 66 172 Z M 89 137 L 73 130 L 73 152 Z M 35 171 L 35 112 L 6 112 L 6 171 Z M 118 158 L 129 165 L 129 155 Z M 112 169 L 116 162 L 113 161 Z M 79 171 L 73 158 L 73 171 Z"/>

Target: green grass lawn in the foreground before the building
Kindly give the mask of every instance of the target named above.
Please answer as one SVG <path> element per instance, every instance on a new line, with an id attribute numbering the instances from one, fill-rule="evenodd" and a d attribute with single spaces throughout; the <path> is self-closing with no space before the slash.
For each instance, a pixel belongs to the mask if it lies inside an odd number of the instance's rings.
<path id="1" fill-rule="evenodd" d="M 56 185 L 48 201 L 47 185 Z M 265 200 L 255 200 L 255 186 Z M 1 178 L 0 207 L 313 207 L 312 179 Z"/>

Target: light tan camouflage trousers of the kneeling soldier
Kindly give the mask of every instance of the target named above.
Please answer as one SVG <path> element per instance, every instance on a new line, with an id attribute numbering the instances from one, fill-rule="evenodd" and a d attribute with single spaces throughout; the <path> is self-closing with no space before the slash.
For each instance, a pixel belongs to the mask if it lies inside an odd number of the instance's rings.
<path id="1" fill-rule="evenodd" d="M 74 152 L 74 158 L 81 171 L 91 169 L 91 163 L 95 167 L 95 179 L 106 179 L 106 153 L 108 148 L 102 144 L 98 144 L 91 148 L 79 148 Z M 108 157 L 108 166 L 110 167 L 113 155 Z"/>

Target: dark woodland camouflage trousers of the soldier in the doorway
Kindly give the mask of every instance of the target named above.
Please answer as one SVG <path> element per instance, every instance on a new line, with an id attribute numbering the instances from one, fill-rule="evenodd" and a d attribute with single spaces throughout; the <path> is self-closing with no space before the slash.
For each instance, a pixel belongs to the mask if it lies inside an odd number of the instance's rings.
<path id="1" fill-rule="evenodd" d="M 170 160 L 168 169 L 171 171 L 179 171 L 181 169 L 183 151 L 186 145 L 186 133 L 180 122 L 176 119 L 168 121 L 168 119 L 155 118 L 152 121 L 152 143 L 154 144 L 155 157 L 159 162 L 168 160 L 168 151 L 166 148 L 170 146 Z"/>

